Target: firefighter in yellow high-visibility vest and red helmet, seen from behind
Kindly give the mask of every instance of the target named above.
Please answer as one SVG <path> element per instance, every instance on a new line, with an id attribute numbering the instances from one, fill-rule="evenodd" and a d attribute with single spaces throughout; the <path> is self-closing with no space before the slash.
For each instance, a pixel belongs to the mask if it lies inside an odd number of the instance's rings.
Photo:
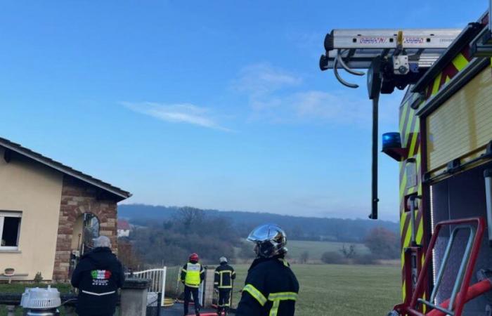
<path id="1" fill-rule="evenodd" d="M 190 296 L 193 295 L 195 304 L 195 315 L 200 316 L 200 298 L 198 298 L 198 288 L 205 279 L 205 269 L 198 263 L 198 254 L 190 254 L 188 263 L 181 269 L 181 282 L 184 284 L 184 315 L 188 315 L 188 305 Z"/>

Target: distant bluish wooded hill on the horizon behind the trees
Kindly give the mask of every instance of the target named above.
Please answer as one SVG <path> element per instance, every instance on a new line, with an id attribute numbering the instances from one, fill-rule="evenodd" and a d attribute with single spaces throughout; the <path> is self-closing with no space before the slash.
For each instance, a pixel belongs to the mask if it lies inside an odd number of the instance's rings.
<path id="1" fill-rule="evenodd" d="M 121 204 L 118 206 L 118 216 L 127 218 L 135 225 L 159 225 L 174 218 L 179 210 L 177 206 Z M 315 218 L 214 209 L 204 211 L 206 216 L 228 218 L 235 230 L 245 237 L 252 228 L 262 223 L 276 223 L 287 232 L 290 239 L 297 240 L 361 242 L 368 231 L 375 227 L 383 227 L 399 233 L 399 224 L 385 220 Z M 210 229 L 220 229 L 220 227 Z"/>

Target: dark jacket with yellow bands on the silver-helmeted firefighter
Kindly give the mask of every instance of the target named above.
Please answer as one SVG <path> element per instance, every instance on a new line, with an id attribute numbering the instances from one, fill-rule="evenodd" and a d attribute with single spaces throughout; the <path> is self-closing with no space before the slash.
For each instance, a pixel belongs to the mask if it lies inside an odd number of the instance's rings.
<path id="1" fill-rule="evenodd" d="M 294 316 L 299 282 L 281 256 L 258 258 L 247 272 L 236 316 Z"/>

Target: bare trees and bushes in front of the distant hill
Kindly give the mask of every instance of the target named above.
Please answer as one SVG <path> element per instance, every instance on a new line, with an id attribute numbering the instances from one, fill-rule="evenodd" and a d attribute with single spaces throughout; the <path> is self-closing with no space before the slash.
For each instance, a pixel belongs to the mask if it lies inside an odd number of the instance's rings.
<path id="1" fill-rule="evenodd" d="M 249 232 L 249 230 L 248 230 Z M 290 231 L 287 230 L 287 235 Z M 252 244 L 230 218 L 210 216 L 201 209 L 183 207 L 166 220 L 152 220 L 132 230 L 129 238 L 119 240 L 119 258 L 132 269 L 160 265 L 181 265 L 196 252 L 202 262 L 216 264 L 221 256 L 231 262 L 253 258 Z M 292 236 L 292 235 L 290 235 Z M 290 240 L 295 239 L 290 237 Z M 399 237 L 386 228 L 373 228 L 363 239 L 370 254 L 358 254 L 354 244 L 323 254 L 323 263 L 375 263 L 377 259 L 398 258 Z M 298 263 L 308 263 L 302 252 Z"/>

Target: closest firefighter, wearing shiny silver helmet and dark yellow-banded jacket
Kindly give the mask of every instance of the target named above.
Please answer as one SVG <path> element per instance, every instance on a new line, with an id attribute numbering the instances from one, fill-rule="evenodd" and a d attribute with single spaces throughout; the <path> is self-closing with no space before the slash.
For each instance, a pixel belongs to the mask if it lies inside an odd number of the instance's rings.
<path id="1" fill-rule="evenodd" d="M 247 240 L 254 242 L 257 258 L 247 272 L 235 315 L 293 316 L 299 282 L 284 258 L 285 232 L 278 225 L 261 225 Z"/>

